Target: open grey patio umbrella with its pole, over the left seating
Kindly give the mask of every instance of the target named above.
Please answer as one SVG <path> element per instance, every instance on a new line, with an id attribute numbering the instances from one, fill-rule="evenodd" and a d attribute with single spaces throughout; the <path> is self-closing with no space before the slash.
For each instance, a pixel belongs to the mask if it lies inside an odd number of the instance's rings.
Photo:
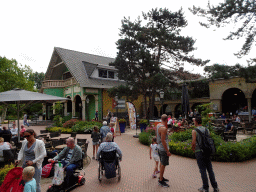
<path id="1" fill-rule="evenodd" d="M 22 111 L 24 108 L 26 108 L 27 106 L 33 103 L 39 103 L 39 102 L 54 103 L 54 102 L 63 101 L 63 100 L 68 100 L 68 99 L 64 97 L 57 97 L 57 96 L 47 95 L 47 94 L 38 93 L 38 92 L 26 91 L 23 89 L 13 89 L 10 91 L 0 93 L 0 103 L 8 107 L 11 107 L 10 104 L 17 105 L 17 109 L 14 109 L 12 107 L 11 108 L 17 111 L 19 141 L 20 141 L 20 126 L 19 126 L 20 111 Z M 20 104 L 25 104 L 25 106 L 20 108 Z"/>

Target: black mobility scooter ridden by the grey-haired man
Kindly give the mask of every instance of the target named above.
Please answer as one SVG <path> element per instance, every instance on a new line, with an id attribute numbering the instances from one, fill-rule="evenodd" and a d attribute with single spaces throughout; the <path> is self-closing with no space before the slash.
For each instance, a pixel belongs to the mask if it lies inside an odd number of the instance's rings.
<path id="1" fill-rule="evenodd" d="M 55 163 L 61 163 L 61 162 L 55 162 Z M 83 159 L 81 159 L 79 162 L 79 167 L 76 170 L 83 170 Z M 78 171 L 74 171 L 74 175 L 72 176 L 72 178 L 70 178 L 70 183 L 72 183 L 72 185 L 70 186 L 65 186 L 65 182 L 63 182 L 60 185 L 50 185 L 47 192 L 65 192 L 65 191 L 70 191 L 73 188 L 75 188 L 76 186 L 79 185 L 84 185 L 85 184 L 85 172 L 83 175 L 81 175 Z"/>

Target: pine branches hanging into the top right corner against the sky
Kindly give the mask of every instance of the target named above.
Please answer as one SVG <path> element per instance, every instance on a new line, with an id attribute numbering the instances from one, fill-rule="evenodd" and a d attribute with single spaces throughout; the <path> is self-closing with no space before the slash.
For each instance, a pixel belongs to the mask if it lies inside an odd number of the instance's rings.
<path id="1" fill-rule="evenodd" d="M 247 55 L 255 44 L 256 35 L 256 3 L 252 0 L 226 0 L 218 6 L 208 4 L 207 9 L 193 6 L 190 11 L 198 16 L 207 18 L 207 22 L 200 22 L 202 26 L 225 27 L 227 24 L 238 25 L 235 31 L 231 31 L 225 40 L 245 37 L 241 50 L 236 53 L 238 57 Z"/>

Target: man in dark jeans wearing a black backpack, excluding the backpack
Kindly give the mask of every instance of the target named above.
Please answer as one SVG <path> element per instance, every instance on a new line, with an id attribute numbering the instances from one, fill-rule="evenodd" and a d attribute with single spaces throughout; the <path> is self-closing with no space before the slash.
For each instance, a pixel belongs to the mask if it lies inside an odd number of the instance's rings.
<path id="1" fill-rule="evenodd" d="M 208 135 L 210 135 L 210 131 L 202 126 L 202 119 L 200 116 L 197 116 L 195 119 L 195 126 L 203 133 L 207 131 Z M 214 188 L 214 192 L 218 192 L 218 184 L 215 180 L 215 175 L 212 169 L 212 163 L 211 159 L 209 156 L 204 156 L 201 149 L 200 145 L 202 144 L 202 139 L 201 136 L 197 133 L 196 130 L 192 131 L 192 150 L 195 152 L 197 164 L 201 173 L 201 178 L 203 181 L 203 187 L 198 189 L 198 191 L 201 192 L 208 192 L 209 191 L 209 184 L 208 184 L 208 178 L 206 174 L 206 170 L 208 171 L 208 175 L 211 181 L 211 185 Z"/>

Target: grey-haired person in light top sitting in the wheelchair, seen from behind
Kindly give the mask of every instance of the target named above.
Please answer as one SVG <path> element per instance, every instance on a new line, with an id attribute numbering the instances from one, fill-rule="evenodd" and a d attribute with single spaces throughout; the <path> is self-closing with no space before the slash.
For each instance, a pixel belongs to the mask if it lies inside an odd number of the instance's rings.
<path id="1" fill-rule="evenodd" d="M 98 149 L 97 156 L 96 156 L 97 160 L 99 160 L 99 158 L 100 158 L 101 151 L 110 152 L 110 151 L 115 151 L 115 150 L 117 152 L 118 157 L 120 158 L 120 161 L 122 160 L 122 151 L 116 142 L 112 142 L 112 139 L 113 139 L 112 133 L 107 133 L 106 142 L 101 143 L 100 147 Z"/>

